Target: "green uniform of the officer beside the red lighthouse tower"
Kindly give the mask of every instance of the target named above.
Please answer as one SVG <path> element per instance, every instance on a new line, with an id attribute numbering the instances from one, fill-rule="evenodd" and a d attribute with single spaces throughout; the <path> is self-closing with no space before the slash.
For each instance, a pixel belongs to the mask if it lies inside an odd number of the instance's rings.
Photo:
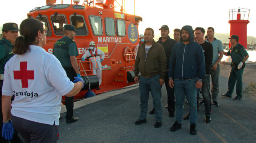
<path id="1" fill-rule="evenodd" d="M 244 72 L 244 65 L 241 69 L 237 69 L 237 65 L 242 62 L 245 56 L 248 55 L 247 51 L 245 50 L 244 46 L 237 43 L 234 47 L 233 45 L 228 50 L 227 54 L 231 56 L 232 63 L 231 63 L 231 70 L 228 77 L 228 91 L 226 93 L 227 96 L 232 96 L 234 85 L 236 84 L 236 95 L 237 98 L 242 98 L 242 91 L 243 91 L 243 83 L 242 83 L 242 75 Z M 245 61 L 244 61 L 245 62 Z"/>

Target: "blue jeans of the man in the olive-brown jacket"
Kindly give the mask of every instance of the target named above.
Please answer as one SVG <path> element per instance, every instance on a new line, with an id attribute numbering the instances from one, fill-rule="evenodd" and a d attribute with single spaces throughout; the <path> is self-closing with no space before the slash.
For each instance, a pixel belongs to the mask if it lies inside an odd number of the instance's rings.
<path id="1" fill-rule="evenodd" d="M 140 76 L 140 115 L 139 119 L 144 120 L 147 118 L 148 111 L 148 96 L 151 92 L 153 105 L 155 108 L 155 119 L 157 122 L 162 121 L 162 102 L 161 102 L 161 86 L 159 83 L 160 75 L 154 77 L 145 78 Z"/>

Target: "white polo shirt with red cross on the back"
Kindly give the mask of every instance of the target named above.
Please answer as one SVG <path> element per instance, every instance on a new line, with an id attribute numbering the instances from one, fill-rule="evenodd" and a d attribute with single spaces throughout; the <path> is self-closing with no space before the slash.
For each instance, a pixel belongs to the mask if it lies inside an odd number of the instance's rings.
<path id="1" fill-rule="evenodd" d="M 23 119 L 59 125 L 61 98 L 74 83 L 66 76 L 59 60 L 42 47 L 15 54 L 5 65 L 2 94 L 15 95 L 11 113 Z"/>

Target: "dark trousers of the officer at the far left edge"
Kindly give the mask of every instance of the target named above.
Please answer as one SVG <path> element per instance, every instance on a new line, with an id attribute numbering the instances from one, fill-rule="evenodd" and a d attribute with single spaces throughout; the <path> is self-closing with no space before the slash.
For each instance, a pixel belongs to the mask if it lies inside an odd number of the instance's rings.
<path id="1" fill-rule="evenodd" d="M 9 143 L 4 137 L 2 137 L 2 128 L 3 128 L 3 113 L 2 113 L 2 87 L 3 80 L 0 80 L 0 143 Z M 12 96 L 12 101 L 14 100 L 14 96 Z M 20 143 L 20 137 L 16 129 L 14 130 L 14 134 L 12 135 L 11 143 Z"/>

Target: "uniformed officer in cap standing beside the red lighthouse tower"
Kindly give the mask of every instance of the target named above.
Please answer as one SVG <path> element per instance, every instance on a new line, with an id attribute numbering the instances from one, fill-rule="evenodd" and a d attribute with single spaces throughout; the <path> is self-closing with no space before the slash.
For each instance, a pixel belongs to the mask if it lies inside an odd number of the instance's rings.
<path id="1" fill-rule="evenodd" d="M 242 75 L 244 72 L 245 61 L 248 59 L 249 55 L 243 45 L 238 43 L 239 37 L 237 35 L 232 35 L 230 38 L 230 43 L 232 46 L 228 52 L 223 52 L 225 56 L 231 56 L 231 70 L 228 77 L 228 91 L 222 96 L 231 98 L 234 85 L 236 84 L 236 97 L 234 101 L 241 100 L 243 92 Z"/>

